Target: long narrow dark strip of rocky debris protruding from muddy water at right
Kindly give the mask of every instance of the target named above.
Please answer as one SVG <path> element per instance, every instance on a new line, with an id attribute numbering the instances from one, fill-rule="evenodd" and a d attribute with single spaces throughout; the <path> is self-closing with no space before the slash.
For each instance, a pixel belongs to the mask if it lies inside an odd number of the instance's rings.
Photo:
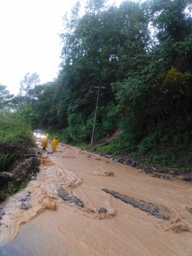
<path id="1" fill-rule="evenodd" d="M 135 199 L 129 196 L 122 195 L 116 191 L 110 191 L 109 189 L 102 188 L 102 191 L 105 193 L 110 193 L 114 198 L 118 198 L 124 203 L 129 203 L 134 208 L 139 208 L 148 215 L 152 215 L 155 218 L 161 218 L 163 220 L 170 220 L 170 210 L 164 206 L 154 205 L 144 200 Z"/>

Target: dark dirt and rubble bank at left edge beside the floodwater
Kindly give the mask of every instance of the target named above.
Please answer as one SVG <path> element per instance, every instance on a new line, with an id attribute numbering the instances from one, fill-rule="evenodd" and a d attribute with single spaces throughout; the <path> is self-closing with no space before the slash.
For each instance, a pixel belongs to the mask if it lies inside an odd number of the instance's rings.
<path id="1" fill-rule="evenodd" d="M 23 181 L 36 178 L 40 159 L 35 149 L 26 143 L 4 143 L 0 145 L 0 201 L 9 193 L 9 186 L 14 190 Z"/>

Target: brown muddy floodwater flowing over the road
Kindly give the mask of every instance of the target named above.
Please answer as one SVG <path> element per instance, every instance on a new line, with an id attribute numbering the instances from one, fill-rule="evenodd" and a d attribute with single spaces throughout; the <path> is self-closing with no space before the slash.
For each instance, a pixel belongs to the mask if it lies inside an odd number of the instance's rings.
<path id="1" fill-rule="evenodd" d="M 63 201 L 58 188 L 84 207 Z M 60 144 L 41 156 L 37 179 L 1 203 L 0 255 L 191 256 L 191 199 L 188 183 Z M 165 209 L 166 218 L 155 218 L 156 209 Z"/>

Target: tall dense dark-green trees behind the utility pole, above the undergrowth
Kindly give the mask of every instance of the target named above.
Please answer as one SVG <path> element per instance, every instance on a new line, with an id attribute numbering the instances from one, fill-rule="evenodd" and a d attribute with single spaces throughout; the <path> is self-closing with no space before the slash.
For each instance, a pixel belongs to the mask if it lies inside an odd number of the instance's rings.
<path id="1" fill-rule="evenodd" d="M 95 87 L 105 86 L 96 138 L 122 128 L 138 143 L 176 119 L 188 129 L 191 1 L 124 1 L 117 8 L 95 0 L 79 12 L 77 2 L 63 17 L 60 74 L 36 95 L 36 124 L 65 129 L 68 141 L 89 142 Z"/>

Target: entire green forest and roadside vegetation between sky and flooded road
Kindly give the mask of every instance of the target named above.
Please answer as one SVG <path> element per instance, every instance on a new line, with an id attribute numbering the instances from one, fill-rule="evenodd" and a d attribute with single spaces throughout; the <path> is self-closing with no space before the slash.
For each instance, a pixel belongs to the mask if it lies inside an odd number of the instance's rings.
<path id="1" fill-rule="evenodd" d="M 90 145 L 98 103 L 94 142 L 109 139 L 92 150 L 190 172 L 191 11 L 191 0 L 88 0 L 84 14 L 80 2 L 63 10 L 58 77 L 41 84 L 27 73 L 15 97 L 0 85 L 0 143 L 43 129 Z"/>

